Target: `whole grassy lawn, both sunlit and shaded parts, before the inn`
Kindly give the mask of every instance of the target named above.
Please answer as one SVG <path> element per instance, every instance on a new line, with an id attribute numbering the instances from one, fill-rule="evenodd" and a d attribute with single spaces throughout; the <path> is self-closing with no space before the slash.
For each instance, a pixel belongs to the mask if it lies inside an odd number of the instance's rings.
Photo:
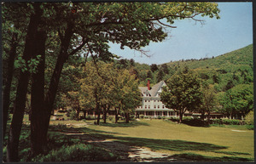
<path id="1" fill-rule="evenodd" d="M 26 161 L 30 150 L 28 116 L 24 117 L 22 128 L 20 158 Z M 68 157 L 71 149 L 81 148 L 88 153 L 96 147 L 108 156 L 102 158 L 104 161 L 133 161 L 129 157 L 133 148 L 167 155 L 154 161 L 254 161 L 253 130 L 242 126 L 193 127 L 162 119 L 141 119 L 129 124 L 101 121 L 100 125 L 95 125 L 93 120 L 51 120 L 48 146 L 49 150 L 55 150 L 49 153 L 53 158 L 56 155 L 62 158 L 66 151 Z M 6 156 L 6 147 L 3 155 Z M 113 158 L 108 159 L 109 156 Z"/>

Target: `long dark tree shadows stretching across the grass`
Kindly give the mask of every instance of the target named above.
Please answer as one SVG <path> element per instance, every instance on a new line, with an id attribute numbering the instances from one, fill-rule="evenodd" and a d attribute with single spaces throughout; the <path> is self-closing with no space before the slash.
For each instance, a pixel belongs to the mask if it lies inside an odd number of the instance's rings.
<path id="1" fill-rule="evenodd" d="M 107 124 L 106 126 L 110 126 Z M 56 130 L 52 129 L 52 133 Z M 135 137 L 122 137 L 116 136 L 114 134 L 122 133 L 111 133 L 101 130 L 94 130 L 87 127 L 65 127 L 61 130 L 65 133 L 71 133 L 71 135 L 55 136 L 58 139 L 58 143 L 90 143 L 95 144 L 99 147 L 104 147 L 105 149 L 117 154 L 119 156 L 125 156 L 124 161 L 131 160 L 129 158 L 129 153 L 134 151 L 134 146 L 138 147 L 148 147 L 151 150 L 172 150 L 172 151 L 183 151 L 183 150 L 194 150 L 194 151 L 205 151 L 205 152 L 214 152 L 221 153 L 231 156 L 201 156 L 193 153 L 178 154 L 173 156 L 165 156 L 161 158 L 152 158 L 147 159 L 149 161 L 253 161 L 252 158 L 242 158 L 237 157 L 237 155 L 249 155 L 247 153 L 241 152 L 229 152 L 229 151 L 220 151 L 227 149 L 227 146 L 217 145 L 217 144 L 207 144 L 207 143 L 198 143 L 198 142 L 189 142 L 185 140 L 170 140 L 170 139 L 143 139 Z M 65 137 L 63 137 L 65 136 Z M 61 139 L 61 140 L 60 140 Z M 63 140 L 64 139 L 64 140 Z M 67 139 L 67 140 L 65 140 Z M 102 142 L 108 139 L 108 142 Z M 110 139 L 110 140 L 109 140 Z M 56 142 L 56 141 L 55 141 Z M 55 143 L 56 144 L 56 143 Z M 58 145 L 59 146 L 59 145 Z M 133 159 L 134 160 L 134 159 Z M 120 160 L 121 161 L 121 160 Z"/>

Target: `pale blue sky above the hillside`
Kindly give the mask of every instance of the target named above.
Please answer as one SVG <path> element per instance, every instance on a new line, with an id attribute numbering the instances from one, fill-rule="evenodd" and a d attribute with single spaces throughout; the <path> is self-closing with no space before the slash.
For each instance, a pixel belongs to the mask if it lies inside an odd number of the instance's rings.
<path id="1" fill-rule="evenodd" d="M 141 53 L 117 44 L 109 44 L 110 52 L 121 59 L 134 59 L 141 64 L 164 64 L 179 59 L 212 58 L 253 43 L 253 3 L 218 3 L 220 19 L 201 17 L 204 25 L 195 20 L 176 20 L 177 28 L 168 29 L 163 42 L 152 42 Z"/>

